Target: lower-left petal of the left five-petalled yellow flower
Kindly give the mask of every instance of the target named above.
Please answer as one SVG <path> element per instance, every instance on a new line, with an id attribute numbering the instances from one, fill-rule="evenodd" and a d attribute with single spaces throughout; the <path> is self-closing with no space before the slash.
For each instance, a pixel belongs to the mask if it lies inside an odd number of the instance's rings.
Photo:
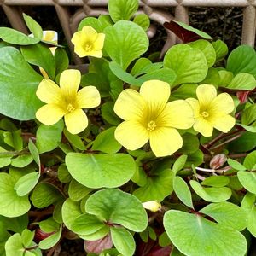
<path id="1" fill-rule="evenodd" d="M 44 125 L 54 125 L 65 114 L 65 111 L 55 104 L 46 104 L 39 108 L 36 118 Z"/>

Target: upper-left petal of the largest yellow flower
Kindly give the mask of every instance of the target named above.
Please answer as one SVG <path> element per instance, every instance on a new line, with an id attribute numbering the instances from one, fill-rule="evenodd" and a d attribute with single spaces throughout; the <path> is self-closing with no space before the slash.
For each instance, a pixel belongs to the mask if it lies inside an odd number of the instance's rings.
<path id="1" fill-rule="evenodd" d="M 146 109 L 147 106 L 143 97 L 132 89 L 123 90 L 113 107 L 114 112 L 124 120 L 142 120 Z"/>

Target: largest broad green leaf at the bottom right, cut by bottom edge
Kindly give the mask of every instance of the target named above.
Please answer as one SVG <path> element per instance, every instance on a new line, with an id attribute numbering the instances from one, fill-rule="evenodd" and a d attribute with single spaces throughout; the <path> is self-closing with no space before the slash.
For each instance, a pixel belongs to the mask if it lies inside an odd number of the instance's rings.
<path id="1" fill-rule="evenodd" d="M 174 246 L 185 255 L 241 256 L 247 252 L 247 241 L 240 232 L 199 214 L 168 211 L 164 216 L 164 227 Z"/>

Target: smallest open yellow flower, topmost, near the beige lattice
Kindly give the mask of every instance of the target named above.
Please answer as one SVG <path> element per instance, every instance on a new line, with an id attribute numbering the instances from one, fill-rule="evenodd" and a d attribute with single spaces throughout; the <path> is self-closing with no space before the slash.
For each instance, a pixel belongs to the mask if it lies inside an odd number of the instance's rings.
<path id="1" fill-rule="evenodd" d="M 74 52 L 79 57 L 102 58 L 104 39 L 105 34 L 97 33 L 91 26 L 84 26 L 81 31 L 73 34 L 71 42 L 74 44 Z"/>

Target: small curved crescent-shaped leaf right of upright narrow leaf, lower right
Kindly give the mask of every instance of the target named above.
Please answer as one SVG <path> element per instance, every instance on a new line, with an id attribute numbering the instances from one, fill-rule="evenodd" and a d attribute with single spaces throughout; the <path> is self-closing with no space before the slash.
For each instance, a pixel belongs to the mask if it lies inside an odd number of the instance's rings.
<path id="1" fill-rule="evenodd" d="M 190 180 L 190 185 L 195 193 L 205 201 L 220 202 L 230 199 L 232 191 L 230 188 L 204 188 L 195 180 Z"/>

